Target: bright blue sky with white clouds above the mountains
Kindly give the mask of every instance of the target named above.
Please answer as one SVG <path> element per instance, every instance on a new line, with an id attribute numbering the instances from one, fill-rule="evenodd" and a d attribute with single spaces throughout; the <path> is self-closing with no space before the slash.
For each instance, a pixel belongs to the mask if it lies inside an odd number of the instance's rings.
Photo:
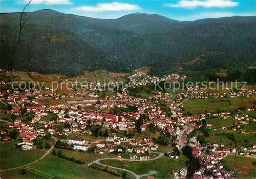
<path id="1" fill-rule="evenodd" d="M 0 12 L 21 12 L 28 0 L 0 0 Z M 32 0 L 26 11 L 52 9 L 94 18 L 119 18 L 144 12 L 180 21 L 256 16 L 256 0 Z"/>

